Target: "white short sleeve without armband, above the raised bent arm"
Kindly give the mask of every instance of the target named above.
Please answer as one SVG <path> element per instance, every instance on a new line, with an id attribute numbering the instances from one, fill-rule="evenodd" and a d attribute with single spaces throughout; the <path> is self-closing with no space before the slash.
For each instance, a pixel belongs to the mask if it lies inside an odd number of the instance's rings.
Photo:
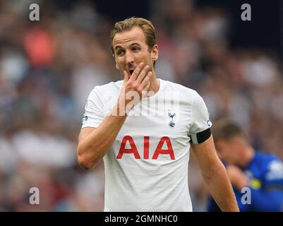
<path id="1" fill-rule="evenodd" d="M 85 104 L 85 114 L 83 114 L 83 126 L 85 127 L 98 127 L 104 120 L 104 114 L 102 111 L 102 100 L 99 95 L 97 87 L 95 87 L 88 96 L 88 100 Z"/>

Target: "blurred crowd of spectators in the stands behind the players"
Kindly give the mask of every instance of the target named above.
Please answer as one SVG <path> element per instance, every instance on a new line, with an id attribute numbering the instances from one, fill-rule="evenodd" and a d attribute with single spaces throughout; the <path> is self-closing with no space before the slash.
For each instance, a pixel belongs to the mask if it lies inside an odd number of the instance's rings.
<path id="1" fill-rule="evenodd" d="M 40 5 L 40 21 L 29 6 Z M 229 117 L 257 150 L 283 159 L 283 75 L 277 55 L 231 49 L 227 12 L 193 1 L 152 1 L 157 77 L 203 96 L 211 121 Z M 53 1 L 0 1 L 0 211 L 102 211 L 104 168 L 84 171 L 76 145 L 95 85 L 121 80 L 109 47 L 114 21 L 94 4 L 62 10 Z M 205 189 L 193 156 L 194 210 Z M 29 203 L 40 189 L 40 205 Z"/>

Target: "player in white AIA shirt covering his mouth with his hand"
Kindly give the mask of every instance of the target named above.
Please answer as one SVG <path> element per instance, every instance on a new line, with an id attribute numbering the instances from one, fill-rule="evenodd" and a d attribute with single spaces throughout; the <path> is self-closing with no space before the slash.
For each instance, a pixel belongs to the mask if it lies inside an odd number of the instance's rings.
<path id="1" fill-rule="evenodd" d="M 91 91 L 78 143 L 83 168 L 104 160 L 104 211 L 192 211 L 190 147 L 220 208 L 238 211 L 202 97 L 155 75 L 152 23 L 134 17 L 120 21 L 110 40 L 124 81 Z"/>

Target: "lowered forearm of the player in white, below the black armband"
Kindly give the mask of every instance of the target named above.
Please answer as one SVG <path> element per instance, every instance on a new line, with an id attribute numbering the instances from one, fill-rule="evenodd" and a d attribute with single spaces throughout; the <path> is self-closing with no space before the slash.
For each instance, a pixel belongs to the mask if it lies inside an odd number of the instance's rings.
<path id="1" fill-rule="evenodd" d="M 204 177 L 204 179 L 215 202 L 222 211 L 239 211 L 234 191 L 224 165 L 222 165 L 221 162 L 219 162 L 217 168 L 212 170 L 211 174 L 208 177 Z"/>

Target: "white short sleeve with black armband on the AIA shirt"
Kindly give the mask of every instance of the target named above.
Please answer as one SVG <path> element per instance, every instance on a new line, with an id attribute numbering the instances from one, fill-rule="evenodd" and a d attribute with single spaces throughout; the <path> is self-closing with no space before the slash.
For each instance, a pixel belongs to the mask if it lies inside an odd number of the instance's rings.
<path id="1" fill-rule="evenodd" d="M 210 114 L 202 97 L 195 92 L 191 105 L 191 126 L 189 130 L 189 136 L 191 142 L 198 144 L 203 143 L 210 138 L 210 127 L 212 123 L 210 121 Z"/>

